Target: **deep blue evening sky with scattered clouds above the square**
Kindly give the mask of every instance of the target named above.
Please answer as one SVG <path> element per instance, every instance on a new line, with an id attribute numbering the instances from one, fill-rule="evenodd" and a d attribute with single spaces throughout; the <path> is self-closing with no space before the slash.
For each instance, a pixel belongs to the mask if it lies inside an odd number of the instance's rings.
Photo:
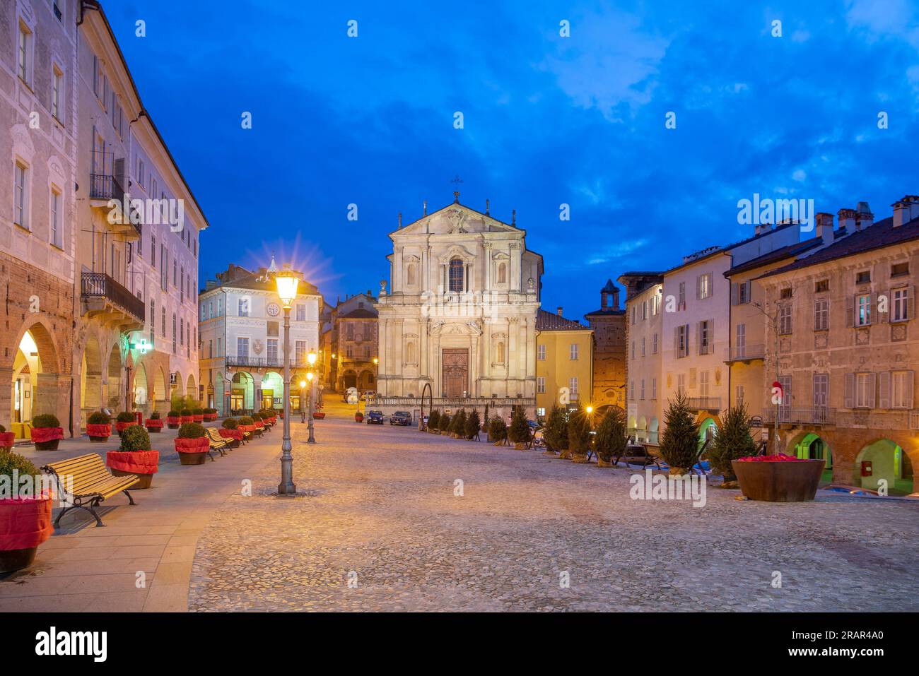
<path id="1" fill-rule="evenodd" d="M 752 234 L 743 197 L 880 219 L 919 192 L 919 4 L 732 5 L 104 3 L 210 220 L 202 286 L 275 253 L 333 302 L 376 291 L 397 213 L 447 205 L 459 175 L 462 203 L 516 208 L 543 307 L 573 319 L 607 277 Z"/>

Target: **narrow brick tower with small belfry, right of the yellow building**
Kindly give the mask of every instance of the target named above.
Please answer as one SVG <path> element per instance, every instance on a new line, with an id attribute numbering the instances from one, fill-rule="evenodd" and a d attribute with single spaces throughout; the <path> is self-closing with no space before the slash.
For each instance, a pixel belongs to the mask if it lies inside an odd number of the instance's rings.
<path id="1" fill-rule="evenodd" d="M 593 405 L 626 409 L 626 312 L 612 279 L 600 289 L 600 308 L 584 315 L 594 330 Z"/>

